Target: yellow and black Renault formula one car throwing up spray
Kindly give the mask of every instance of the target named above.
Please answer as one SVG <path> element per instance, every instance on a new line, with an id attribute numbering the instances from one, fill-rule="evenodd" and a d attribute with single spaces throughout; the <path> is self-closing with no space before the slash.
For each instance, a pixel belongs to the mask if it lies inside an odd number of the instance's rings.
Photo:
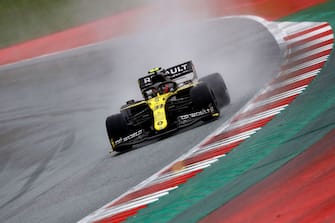
<path id="1" fill-rule="evenodd" d="M 219 73 L 198 79 L 192 61 L 151 69 L 138 79 L 144 100 L 129 100 L 120 113 L 106 119 L 111 151 L 162 137 L 198 121 L 214 120 L 220 108 L 230 103 Z"/>

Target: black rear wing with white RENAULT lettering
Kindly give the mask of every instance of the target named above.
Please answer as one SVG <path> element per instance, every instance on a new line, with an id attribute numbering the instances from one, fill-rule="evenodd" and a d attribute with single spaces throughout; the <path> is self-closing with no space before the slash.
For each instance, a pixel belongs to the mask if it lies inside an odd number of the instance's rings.
<path id="1" fill-rule="evenodd" d="M 155 84 L 152 81 L 152 78 L 155 75 L 156 74 L 150 74 L 148 76 L 138 79 L 138 85 L 140 89 L 143 90 Z M 187 81 L 193 81 L 198 78 L 192 61 L 187 61 L 185 63 L 167 68 L 165 76 L 170 80 L 177 82 L 177 84 Z"/>

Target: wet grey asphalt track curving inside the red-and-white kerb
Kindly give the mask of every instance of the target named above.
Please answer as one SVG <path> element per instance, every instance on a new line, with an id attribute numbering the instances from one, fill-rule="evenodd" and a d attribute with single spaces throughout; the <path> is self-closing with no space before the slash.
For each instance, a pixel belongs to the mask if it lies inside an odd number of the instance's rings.
<path id="1" fill-rule="evenodd" d="M 261 25 L 226 19 L 124 37 L 0 68 L 0 222 L 76 222 L 140 183 L 231 117 L 279 69 Z M 215 122 L 108 154 L 105 118 L 140 98 L 137 78 L 193 60 L 223 74 L 232 104 Z"/>

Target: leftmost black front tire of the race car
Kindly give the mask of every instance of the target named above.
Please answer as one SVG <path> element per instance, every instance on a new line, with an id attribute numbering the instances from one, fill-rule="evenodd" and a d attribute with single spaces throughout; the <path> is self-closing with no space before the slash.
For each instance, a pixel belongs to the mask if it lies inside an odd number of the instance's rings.
<path id="1" fill-rule="evenodd" d="M 106 119 L 106 130 L 108 139 L 112 145 L 111 139 L 116 140 L 124 135 L 128 134 L 128 125 L 123 114 L 115 114 L 107 117 Z M 113 147 L 113 145 L 112 145 Z M 131 146 L 119 146 L 113 147 L 114 151 L 120 151 L 125 149 L 130 149 Z"/>

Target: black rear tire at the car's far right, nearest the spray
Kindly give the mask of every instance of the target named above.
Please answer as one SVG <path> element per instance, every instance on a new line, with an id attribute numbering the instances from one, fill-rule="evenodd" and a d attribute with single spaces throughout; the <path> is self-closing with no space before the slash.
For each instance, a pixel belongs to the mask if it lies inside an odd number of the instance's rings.
<path id="1" fill-rule="evenodd" d="M 206 83 L 217 100 L 218 108 L 222 108 L 230 103 L 230 96 L 225 81 L 219 73 L 213 73 L 200 78 L 200 81 Z"/>

